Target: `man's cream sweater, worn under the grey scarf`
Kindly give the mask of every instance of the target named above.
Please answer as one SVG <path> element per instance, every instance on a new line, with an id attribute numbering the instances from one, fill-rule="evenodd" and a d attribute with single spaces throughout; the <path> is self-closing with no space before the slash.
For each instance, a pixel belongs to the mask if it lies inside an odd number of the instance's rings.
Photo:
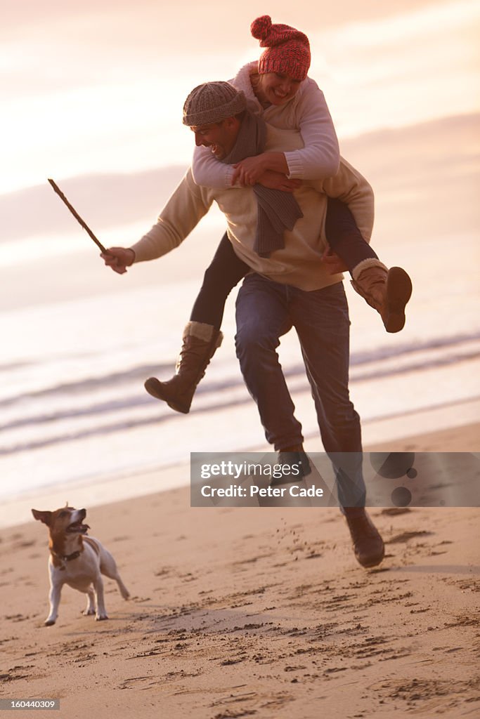
<path id="1" fill-rule="evenodd" d="M 268 150 L 294 151 L 303 146 L 299 132 L 279 130 L 267 126 Z M 358 229 L 368 242 L 373 227 L 373 191 L 360 173 L 345 160 L 333 178 L 304 181 L 294 195 L 304 214 L 291 232 L 285 232 L 285 247 L 270 257 L 259 257 L 253 250 L 257 222 L 257 201 L 252 188 L 235 192 L 196 185 L 188 170 L 150 232 L 132 245 L 135 262 L 154 260 L 178 247 L 213 202 L 227 219 L 227 234 L 235 253 L 256 273 L 276 282 L 294 285 L 302 290 L 317 290 L 343 279 L 343 275 L 329 275 L 320 259 L 327 246 L 325 216 L 327 194 L 347 203 L 356 219 Z"/>

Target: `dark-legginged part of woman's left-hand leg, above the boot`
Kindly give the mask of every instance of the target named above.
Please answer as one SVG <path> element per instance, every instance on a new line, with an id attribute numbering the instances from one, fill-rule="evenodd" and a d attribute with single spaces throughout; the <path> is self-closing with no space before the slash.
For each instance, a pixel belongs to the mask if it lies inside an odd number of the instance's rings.
<path id="1" fill-rule="evenodd" d="M 212 262 L 204 274 L 204 282 L 191 310 L 191 322 L 210 324 L 220 329 L 225 302 L 232 289 L 245 277 L 248 265 L 242 262 L 225 232 Z"/>

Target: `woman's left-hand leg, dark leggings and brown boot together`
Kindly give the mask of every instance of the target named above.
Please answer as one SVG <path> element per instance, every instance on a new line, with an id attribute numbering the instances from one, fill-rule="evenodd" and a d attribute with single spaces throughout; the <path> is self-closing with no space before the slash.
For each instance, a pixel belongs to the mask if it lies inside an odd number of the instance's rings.
<path id="1" fill-rule="evenodd" d="M 177 412 L 186 414 L 190 411 L 196 386 L 215 350 L 222 344 L 220 325 L 225 301 L 247 270 L 248 266 L 235 255 L 225 234 L 205 272 L 190 321 L 184 329 L 175 375 L 167 382 L 160 382 L 156 377 L 150 377 L 145 382 L 145 389 L 150 395 L 163 400 Z"/>

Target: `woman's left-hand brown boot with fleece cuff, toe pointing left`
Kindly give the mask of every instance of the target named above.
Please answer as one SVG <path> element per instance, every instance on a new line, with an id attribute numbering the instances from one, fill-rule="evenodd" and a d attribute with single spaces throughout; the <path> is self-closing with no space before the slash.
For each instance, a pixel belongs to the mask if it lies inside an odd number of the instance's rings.
<path id="1" fill-rule="evenodd" d="M 164 400 L 177 412 L 188 414 L 196 385 L 204 376 L 215 350 L 222 344 L 223 334 L 211 324 L 189 322 L 183 339 L 175 376 L 168 382 L 150 377 L 145 382 L 145 390 L 158 400 Z"/>

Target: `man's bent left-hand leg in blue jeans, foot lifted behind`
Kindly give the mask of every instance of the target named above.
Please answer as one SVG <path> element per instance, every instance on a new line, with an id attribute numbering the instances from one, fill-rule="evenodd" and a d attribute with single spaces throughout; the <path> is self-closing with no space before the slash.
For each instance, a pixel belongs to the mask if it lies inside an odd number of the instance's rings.
<path id="1" fill-rule="evenodd" d="M 237 295 L 235 345 L 245 384 L 258 406 L 265 436 L 277 451 L 302 444 L 302 426 L 286 387 L 276 348 L 291 329 L 287 285 L 248 275 Z"/>

